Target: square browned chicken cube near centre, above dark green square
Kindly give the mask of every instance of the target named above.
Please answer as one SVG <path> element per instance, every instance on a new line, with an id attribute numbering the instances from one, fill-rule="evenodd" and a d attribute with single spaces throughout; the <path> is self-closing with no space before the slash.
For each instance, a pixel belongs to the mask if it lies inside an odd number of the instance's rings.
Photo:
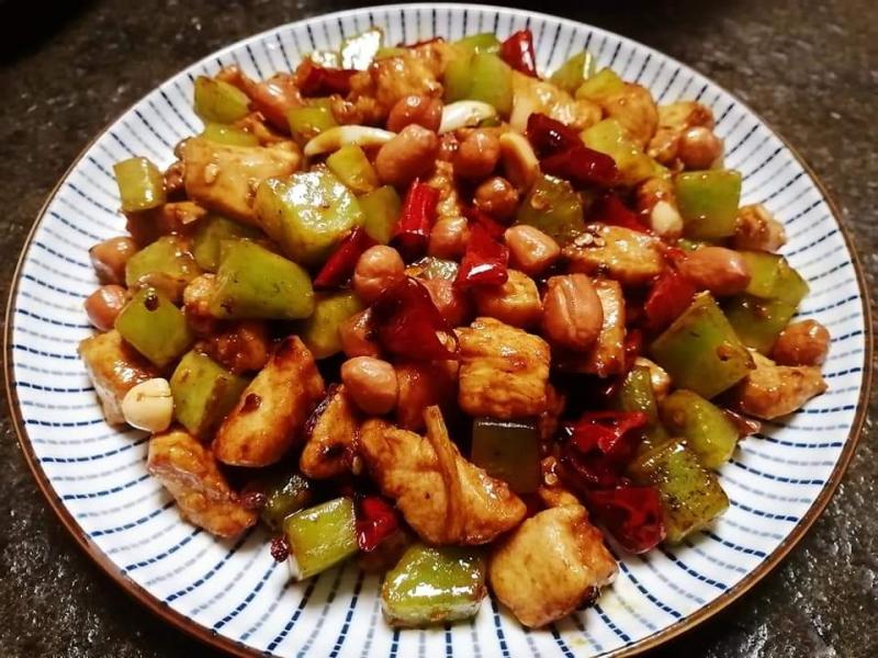
<path id="1" fill-rule="evenodd" d="M 457 330 L 460 408 L 470 416 L 539 416 L 548 404 L 549 344 L 494 318 Z"/>

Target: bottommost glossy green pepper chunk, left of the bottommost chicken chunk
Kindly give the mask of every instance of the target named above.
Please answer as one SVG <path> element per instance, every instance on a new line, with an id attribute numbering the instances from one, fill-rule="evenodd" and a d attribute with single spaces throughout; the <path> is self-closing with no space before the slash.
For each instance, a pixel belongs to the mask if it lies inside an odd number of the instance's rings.
<path id="1" fill-rule="evenodd" d="M 381 603 L 392 626 L 426 626 L 475 616 L 486 591 L 477 552 L 414 544 L 387 572 Z"/>

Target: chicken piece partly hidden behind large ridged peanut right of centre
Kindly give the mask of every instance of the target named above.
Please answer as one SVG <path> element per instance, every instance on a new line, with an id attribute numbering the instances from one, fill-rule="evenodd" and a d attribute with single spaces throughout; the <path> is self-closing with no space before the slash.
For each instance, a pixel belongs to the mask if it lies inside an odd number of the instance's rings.
<path id="1" fill-rule="evenodd" d="M 561 355 L 559 368 L 609 377 L 624 371 L 624 296 L 622 287 L 616 281 L 598 279 L 594 283 L 604 307 L 600 336 L 588 352 Z"/>

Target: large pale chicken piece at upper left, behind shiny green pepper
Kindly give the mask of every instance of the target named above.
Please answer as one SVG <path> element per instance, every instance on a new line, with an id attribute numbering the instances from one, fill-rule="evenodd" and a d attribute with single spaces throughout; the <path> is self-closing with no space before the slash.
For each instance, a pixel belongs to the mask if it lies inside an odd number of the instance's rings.
<path id="1" fill-rule="evenodd" d="M 258 226 L 254 200 L 259 183 L 288 177 L 302 162 L 290 141 L 270 147 L 228 146 L 193 137 L 182 148 L 185 191 L 210 211 Z"/>

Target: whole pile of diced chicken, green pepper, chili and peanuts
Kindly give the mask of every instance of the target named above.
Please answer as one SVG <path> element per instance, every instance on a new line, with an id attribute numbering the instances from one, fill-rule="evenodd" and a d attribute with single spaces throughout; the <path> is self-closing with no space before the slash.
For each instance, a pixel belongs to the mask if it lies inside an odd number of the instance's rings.
<path id="1" fill-rule="evenodd" d="M 79 352 L 189 522 L 386 571 L 394 625 L 489 587 L 542 626 L 612 581 L 605 536 L 725 510 L 714 469 L 825 389 L 829 333 L 707 106 L 587 53 L 541 79 L 528 31 L 382 42 L 195 80 L 177 160 L 115 166 Z"/>

